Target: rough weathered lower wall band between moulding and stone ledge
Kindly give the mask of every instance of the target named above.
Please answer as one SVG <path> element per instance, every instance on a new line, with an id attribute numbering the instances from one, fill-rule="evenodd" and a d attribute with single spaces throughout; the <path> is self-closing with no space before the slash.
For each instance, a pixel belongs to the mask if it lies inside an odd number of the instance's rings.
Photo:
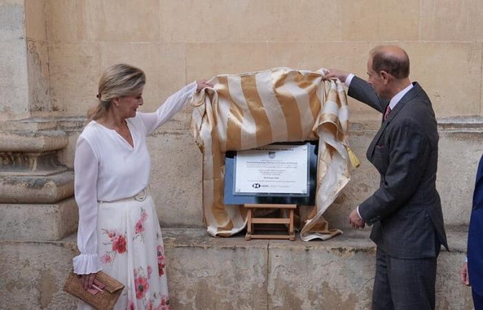
<path id="1" fill-rule="evenodd" d="M 151 155 L 151 189 L 159 220 L 164 227 L 204 227 L 201 207 L 202 155 L 188 132 L 184 114 L 166 123 L 148 137 Z M 70 144 L 63 149 L 66 163 L 72 167 L 75 141 L 82 122 L 68 128 Z M 324 215 L 332 227 L 350 229 L 346 217 L 379 186 L 379 175 L 366 159 L 378 122 L 354 123 L 350 145 L 362 165 L 353 170 L 351 182 L 335 204 Z M 440 120 L 440 156 L 437 189 L 440 192 L 446 225 L 466 226 L 469 223 L 471 199 L 477 163 L 483 154 L 483 125 L 480 118 L 448 118 Z M 65 162 L 64 162 L 65 163 Z"/>

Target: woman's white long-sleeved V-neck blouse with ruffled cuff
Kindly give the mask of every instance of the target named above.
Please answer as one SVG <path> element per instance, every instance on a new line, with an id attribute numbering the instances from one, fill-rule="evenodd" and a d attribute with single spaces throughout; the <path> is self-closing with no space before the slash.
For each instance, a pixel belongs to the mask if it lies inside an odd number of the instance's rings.
<path id="1" fill-rule="evenodd" d="M 127 118 L 133 147 L 115 130 L 91 121 L 79 136 L 75 149 L 75 200 L 79 206 L 74 272 L 101 270 L 97 255 L 97 202 L 129 198 L 149 184 L 150 156 L 146 136 L 168 121 L 188 102 L 197 88 L 190 83 L 172 94 L 154 113 L 137 112 Z"/>

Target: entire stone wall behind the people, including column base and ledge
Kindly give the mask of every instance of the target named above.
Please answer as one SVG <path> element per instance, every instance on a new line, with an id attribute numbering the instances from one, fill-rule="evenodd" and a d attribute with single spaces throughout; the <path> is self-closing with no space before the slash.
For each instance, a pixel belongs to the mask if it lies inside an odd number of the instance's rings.
<path id="1" fill-rule="evenodd" d="M 483 153 L 482 20 L 480 0 L 0 0 L 0 299 L 17 309 L 75 307 L 61 291 L 76 254 L 72 163 L 108 65 L 145 70 L 141 110 L 150 112 L 216 74 L 287 66 L 365 77 L 368 51 L 396 43 L 439 121 L 437 188 L 453 252 L 440 256 L 437 309 L 471 309 L 455 277 Z M 350 110 L 362 165 L 326 212 L 346 232 L 328 242 L 208 237 L 190 107 L 148 137 L 177 309 L 366 308 L 374 246 L 346 217 L 377 187 L 365 149 L 380 116 L 352 99 Z"/>

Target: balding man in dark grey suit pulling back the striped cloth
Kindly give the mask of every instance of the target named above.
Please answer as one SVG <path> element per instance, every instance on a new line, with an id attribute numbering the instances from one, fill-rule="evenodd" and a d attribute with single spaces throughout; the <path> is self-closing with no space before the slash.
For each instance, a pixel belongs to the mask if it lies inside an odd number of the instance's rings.
<path id="1" fill-rule="evenodd" d="M 448 248 L 436 190 L 437 123 L 431 101 L 409 80 L 409 58 L 394 45 L 371 50 L 368 83 L 330 70 L 348 95 L 382 113 L 367 150 L 380 187 L 349 216 L 353 227 L 373 225 L 377 245 L 373 309 L 435 309 L 436 262 Z"/>

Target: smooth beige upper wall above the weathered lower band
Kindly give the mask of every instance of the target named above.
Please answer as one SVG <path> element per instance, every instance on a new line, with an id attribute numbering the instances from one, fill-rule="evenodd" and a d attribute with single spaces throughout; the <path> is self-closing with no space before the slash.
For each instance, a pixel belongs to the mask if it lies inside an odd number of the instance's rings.
<path id="1" fill-rule="evenodd" d="M 142 110 L 152 111 L 182 85 L 222 73 L 324 67 L 365 77 L 380 43 L 406 49 L 438 117 L 480 115 L 480 0 L 42 1 L 57 115 L 83 115 L 112 63 L 146 70 Z M 377 118 L 355 102 L 351 112 Z"/>

